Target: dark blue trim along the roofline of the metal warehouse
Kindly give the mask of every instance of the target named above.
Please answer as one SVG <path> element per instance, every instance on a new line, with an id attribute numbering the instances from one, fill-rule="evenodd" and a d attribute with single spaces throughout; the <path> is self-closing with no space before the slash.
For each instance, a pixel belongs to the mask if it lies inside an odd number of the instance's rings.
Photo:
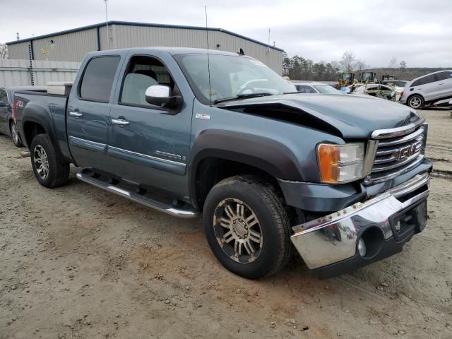
<path id="1" fill-rule="evenodd" d="M 27 39 L 20 39 L 20 40 L 14 40 L 10 42 L 6 42 L 6 44 L 9 46 L 11 44 L 20 44 L 20 42 L 29 42 L 32 40 L 39 40 L 43 39 L 45 37 L 54 37 L 55 35 L 64 35 L 72 32 L 80 32 L 81 30 L 90 30 L 93 28 L 100 28 L 107 25 L 107 23 L 96 23 L 94 25 L 88 25 L 83 26 L 79 28 L 73 28 L 71 30 L 61 30 L 60 32 L 54 32 L 46 35 L 39 35 L 37 37 L 29 37 Z M 245 37 L 244 35 L 239 35 L 237 33 L 231 32 L 230 30 L 223 30 L 222 28 L 212 28 L 212 27 L 199 27 L 199 26 L 184 26 L 184 25 L 166 25 L 162 23 L 133 23 L 129 21 L 108 21 L 108 25 L 125 25 L 125 26 L 142 26 L 142 27 L 156 27 L 156 28 L 179 28 L 179 29 L 185 29 L 185 30 L 209 30 L 209 31 L 216 31 L 216 32 L 224 32 L 229 35 L 234 35 L 234 37 L 240 37 L 244 40 L 248 40 L 251 42 L 254 42 L 256 44 L 261 44 L 262 46 L 269 47 L 271 49 L 275 49 L 280 52 L 284 52 L 284 49 L 280 49 L 278 47 L 271 46 L 270 44 L 266 44 L 264 42 L 260 42 L 258 40 L 251 39 L 250 37 Z"/>

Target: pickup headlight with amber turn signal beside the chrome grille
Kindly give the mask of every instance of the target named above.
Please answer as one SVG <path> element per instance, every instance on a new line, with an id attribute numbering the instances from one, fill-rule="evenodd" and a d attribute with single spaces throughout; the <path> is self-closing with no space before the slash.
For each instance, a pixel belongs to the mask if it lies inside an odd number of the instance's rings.
<path id="1" fill-rule="evenodd" d="M 321 143 L 317 146 L 317 156 L 322 182 L 350 182 L 363 177 L 364 143 Z"/>

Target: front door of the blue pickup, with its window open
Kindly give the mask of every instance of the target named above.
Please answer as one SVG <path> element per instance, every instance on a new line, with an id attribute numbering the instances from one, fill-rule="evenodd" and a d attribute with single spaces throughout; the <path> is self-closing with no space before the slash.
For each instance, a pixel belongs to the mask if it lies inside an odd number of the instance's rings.
<path id="1" fill-rule="evenodd" d="M 145 90 L 152 85 L 167 85 L 172 93 L 179 93 L 162 61 L 148 55 L 131 56 L 110 112 L 108 155 L 115 164 L 114 174 L 124 179 L 168 192 L 181 191 L 192 105 L 183 105 L 179 112 L 150 105 Z"/>

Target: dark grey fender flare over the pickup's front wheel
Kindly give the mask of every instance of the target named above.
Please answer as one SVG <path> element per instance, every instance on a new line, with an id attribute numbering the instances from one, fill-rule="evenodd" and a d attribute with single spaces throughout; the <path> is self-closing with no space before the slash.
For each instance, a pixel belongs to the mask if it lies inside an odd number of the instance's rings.
<path id="1" fill-rule="evenodd" d="M 286 145 L 249 133 L 210 129 L 200 133 L 191 148 L 189 190 L 194 206 L 198 205 L 196 172 L 199 163 L 207 157 L 242 162 L 275 179 L 302 181 L 297 158 Z"/>

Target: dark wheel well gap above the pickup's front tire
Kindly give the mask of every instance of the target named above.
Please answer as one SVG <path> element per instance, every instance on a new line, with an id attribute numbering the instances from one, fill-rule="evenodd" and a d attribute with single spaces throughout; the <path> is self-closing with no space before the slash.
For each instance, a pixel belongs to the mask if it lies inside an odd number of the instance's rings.
<path id="1" fill-rule="evenodd" d="M 251 174 L 273 185 L 278 194 L 283 198 L 278 181 L 267 172 L 257 167 L 235 162 L 232 160 L 220 159 L 217 157 L 207 157 L 201 160 L 196 167 L 196 203 L 200 210 L 203 210 L 204 202 L 210 191 L 222 179 L 234 175 Z"/>

